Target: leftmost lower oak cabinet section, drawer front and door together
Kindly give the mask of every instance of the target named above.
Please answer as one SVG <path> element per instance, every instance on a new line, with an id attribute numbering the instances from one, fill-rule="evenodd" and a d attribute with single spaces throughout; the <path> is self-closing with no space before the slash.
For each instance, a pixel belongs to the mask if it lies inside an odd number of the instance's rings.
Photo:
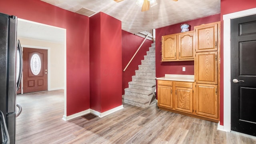
<path id="1" fill-rule="evenodd" d="M 173 108 L 172 81 L 158 80 L 158 106 Z"/>

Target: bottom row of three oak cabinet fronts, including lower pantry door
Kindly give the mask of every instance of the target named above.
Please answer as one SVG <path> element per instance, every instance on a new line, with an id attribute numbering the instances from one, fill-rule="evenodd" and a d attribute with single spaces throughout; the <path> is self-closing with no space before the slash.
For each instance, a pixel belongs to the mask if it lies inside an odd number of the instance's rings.
<path id="1" fill-rule="evenodd" d="M 218 85 L 158 80 L 158 107 L 218 122 Z"/>

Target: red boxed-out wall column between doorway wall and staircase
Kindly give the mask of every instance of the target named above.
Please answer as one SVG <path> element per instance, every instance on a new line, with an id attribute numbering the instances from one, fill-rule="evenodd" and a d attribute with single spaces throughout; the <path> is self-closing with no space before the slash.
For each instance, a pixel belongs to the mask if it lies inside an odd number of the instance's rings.
<path id="1" fill-rule="evenodd" d="M 90 17 L 90 108 L 122 105 L 121 21 L 102 12 Z"/>

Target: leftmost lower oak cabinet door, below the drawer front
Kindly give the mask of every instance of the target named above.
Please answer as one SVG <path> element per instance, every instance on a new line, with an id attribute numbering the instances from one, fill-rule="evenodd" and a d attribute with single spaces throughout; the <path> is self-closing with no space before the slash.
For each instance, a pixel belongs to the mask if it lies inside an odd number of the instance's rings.
<path id="1" fill-rule="evenodd" d="M 158 106 L 173 108 L 172 102 L 172 86 L 158 85 L 157 89 Z"/>

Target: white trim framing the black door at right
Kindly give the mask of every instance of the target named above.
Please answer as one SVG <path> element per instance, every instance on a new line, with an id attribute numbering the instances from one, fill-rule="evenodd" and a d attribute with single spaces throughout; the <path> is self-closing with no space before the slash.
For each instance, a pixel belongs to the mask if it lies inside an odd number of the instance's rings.
<path id="1" fill-rule="evenodd" d="M 230 78 L 231 78 L 231 55 L 230 55 L 230 20 L 234 18 L 239 18 L 243 16 L 249 16 L 252 14 L 256 14 L 256 8 L 243 10 L 240 12 L 234 12 L 230 14 L 223 15 L 223 24 L 224 24 L 224 32 L 223 32 L 223 81 L 224 81 L 224 110 L 223 110 L 223 131 L 230 132 L 231 130 L 231 84 L 230 84 Z M 219 126 L 218 126 L 219 127 Z M 221 130 L 221 129 L 220 129 Z"/>

